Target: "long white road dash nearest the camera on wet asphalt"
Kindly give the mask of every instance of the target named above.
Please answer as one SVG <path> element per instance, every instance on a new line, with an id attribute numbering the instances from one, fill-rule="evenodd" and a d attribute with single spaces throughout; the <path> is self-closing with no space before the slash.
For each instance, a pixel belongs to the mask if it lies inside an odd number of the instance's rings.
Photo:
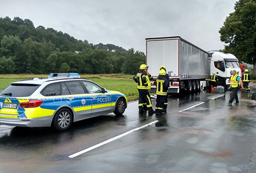
<path id="1" fill-rule="evenodd" d="M 117 139 L 120 139 L 121 137 L 124 137 L 124 136 L 126 136 L 126 135 L 129 135 L 129 134 L 131 134 L 131 133 L 134 132 L 134 131 L 140 130 L 141 128 L 145 128 L 145 127 L 147 127 L 147 126 L 150 126 L 150 125 L 152 125 L 152 124 L 154 124 L 154 123 L 156 123 L 156 122 L 158 122 L 158 120 L 153 121 L 153 122 L 150 122 L 150 123 L 147 123 L 147 124 L 144 125 L 144 126 L 134 128 L 133 130 L 127 131 L 127 132 L 125 132 L 124 134 L 121 134 L 121 135 L 119 135 L 119 136 L 113 137 L 113 138 L 111 138 L 111 139 L 109 139 L 109 140 L 106 140 L 106 141 L 104 141 L 104 142 L 101 142 L 100 144 L 91 146 L 91 147 L 89 147 L 89 148 L 87 148 L 87 149 L 85 149 L 85 150 L 82 150 L 82 151 L 80 151 L 80 152 L 77 152 L 77 153 L 75 153 L 75 154 L 72 154 L 72 155 L 70 155 L 70 156 L 68 156 L 68 157 L 74 158 L 74 157 L 79 156 L 79 155 L 81 155 L 81 154 L 85 154 L 85 153 L 88 152 L 88 151 L 91 151 L 91 150 L 96 149 L 97 147 L 100 147 L 100 146 L 102 146 L 102 145 L 105 145 L 105 144 L 107 144 L 107 143 L 109 143 L 109 142 L 112 142 L 112 141 L 115 141 L 115 140 L 117 140 Z"/>

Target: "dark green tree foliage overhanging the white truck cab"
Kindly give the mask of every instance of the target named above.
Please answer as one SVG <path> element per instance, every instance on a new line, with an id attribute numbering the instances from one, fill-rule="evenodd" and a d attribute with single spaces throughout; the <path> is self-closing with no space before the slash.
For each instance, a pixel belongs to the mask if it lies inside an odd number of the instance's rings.
<path id="1" fill-rule="evenodd" d="M 220 28 L 220 40 L 227 45 L 223 52 L 233 53 L 239 61 L 254 65 L 256 75 L 256 1 L 239 0 Z"/>

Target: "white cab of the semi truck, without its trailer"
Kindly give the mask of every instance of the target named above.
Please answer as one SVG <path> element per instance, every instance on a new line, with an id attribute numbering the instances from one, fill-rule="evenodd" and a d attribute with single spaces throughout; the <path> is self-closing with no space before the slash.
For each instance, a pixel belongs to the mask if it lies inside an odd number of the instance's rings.
<path id="1" fill-rule="evenodd" d="M 210 52 L 211 63 L 210 72 L 211 75 L 215 72 L 219 78 L 218 85 L 230 85 L 229 78 L 232 75 L 232 71 L 237 71 L 237 74 L 241 77 L 241 69 L 239 67 L 238 59 L 230 53 L 223 52 Z"/>

